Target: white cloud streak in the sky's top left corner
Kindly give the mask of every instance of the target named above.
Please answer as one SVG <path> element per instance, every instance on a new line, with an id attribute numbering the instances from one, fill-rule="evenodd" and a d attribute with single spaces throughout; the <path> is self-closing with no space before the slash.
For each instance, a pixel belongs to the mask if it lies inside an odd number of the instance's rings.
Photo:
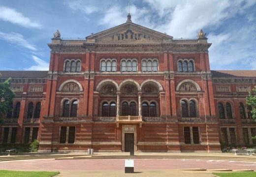
<path id="1" fill-rule="evenodd" d="M 20 25 L 25 28 L 41 28 L 41 24 L 38 22 L 32 22 L 28 17 L 25 17 L 22 13 L 17 12 L 13 8 L 0 6 L 0 19 L 13 24 Z"/>

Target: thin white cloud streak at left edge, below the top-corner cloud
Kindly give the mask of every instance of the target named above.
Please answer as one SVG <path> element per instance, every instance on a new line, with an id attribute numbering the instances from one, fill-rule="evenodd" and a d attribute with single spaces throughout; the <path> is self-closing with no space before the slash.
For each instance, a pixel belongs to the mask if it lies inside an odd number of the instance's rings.
<path id="1" fill-rule="evenodd" d="M 0 31 L 0 39 L 5 40 L 13 45 L 27 48 L 31 51 L 37 51 L 36 47 L 24 39 L 23 35 L 16 32 L 5 33 Z"/>

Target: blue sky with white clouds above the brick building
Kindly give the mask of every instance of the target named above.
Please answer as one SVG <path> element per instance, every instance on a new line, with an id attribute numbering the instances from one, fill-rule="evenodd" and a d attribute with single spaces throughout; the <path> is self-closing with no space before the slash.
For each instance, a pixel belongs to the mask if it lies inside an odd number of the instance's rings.
<path id="1" fill-rule="evenodd" d="M 211 69 L 256 69 L 256 0 L 129 0 L 133 23 L 207 33 Z M 0 0 L 0 70 L 48 70 L 53 33 L 85 38 L 126 22 L 128 0 Z"/>

